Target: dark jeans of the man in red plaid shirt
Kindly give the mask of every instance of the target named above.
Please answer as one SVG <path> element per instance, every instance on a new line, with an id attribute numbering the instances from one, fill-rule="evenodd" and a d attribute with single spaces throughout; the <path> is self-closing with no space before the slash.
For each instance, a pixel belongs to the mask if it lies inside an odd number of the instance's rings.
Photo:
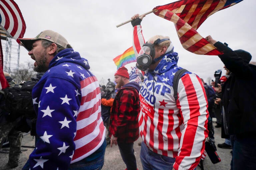
<path id="1" fill-rule="evenodd" d="M 126 165 L 127 170 L 137 170 L 136 158 L 134 155 L 133 143 L 119 143 L 120 154 Z"/>

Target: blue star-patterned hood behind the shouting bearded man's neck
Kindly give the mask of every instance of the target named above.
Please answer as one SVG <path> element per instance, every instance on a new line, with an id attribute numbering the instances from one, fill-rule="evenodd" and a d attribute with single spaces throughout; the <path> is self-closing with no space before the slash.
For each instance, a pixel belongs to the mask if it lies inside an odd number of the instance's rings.
<path id="1" fill-rule="evenodd" d="M 49 69 L 54 67 L 55 65 L 59 65 L 64 62 L 81 65 L 86 70 L 90 69 L 88 60 L 85 58 L 81 58 L 79 52 L 74 51 L 72 48 L 63 49 L 59 53 L 57 53 L 57 55 L 50 62 Z"/>

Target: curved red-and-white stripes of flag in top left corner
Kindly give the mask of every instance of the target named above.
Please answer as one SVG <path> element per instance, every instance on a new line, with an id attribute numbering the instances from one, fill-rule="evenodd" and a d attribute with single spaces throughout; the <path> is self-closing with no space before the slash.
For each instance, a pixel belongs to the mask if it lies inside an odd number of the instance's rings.
<path id="1" fill-rule="evenodd" d="M 18 5 L 13 0 L 0 0 L 1 26 L 18 43 L 18 38 L 23 38 L 26 24 Z"/>

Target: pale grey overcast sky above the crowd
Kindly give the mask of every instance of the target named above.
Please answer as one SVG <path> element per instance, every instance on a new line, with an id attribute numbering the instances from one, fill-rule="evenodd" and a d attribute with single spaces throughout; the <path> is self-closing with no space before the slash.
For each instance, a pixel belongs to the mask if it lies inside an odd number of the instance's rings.
<path id="1" fill-rule="evenodd" d="M 53 30 L 63 35 L 75 51 L 88 59 L 91 71 L 100 81 L 113 80 L 116 65 L 113 58 L 132 46 L 130 23 L 116 28 L 134 14 L 151 11 L 155 6 L 175 0 L 15 0 L 26 23 L 24 38 L 33 38 L 43 30 Z M 256 1 L 244 0 L 210 16 L 197 30 L 202 37 L 211 35 L 226 42 L 232 49 L 249 51 L 256 61 L 255 16 Z M 154 35 L 169 36 L 174 51 L 179 53 L 178 66 L 196 73 L 203 79 L 213 77 L 222 69 L 218 56 L 197 55 L 185 50 L 174 24 L 151 13 L 142 23 L 145 40 Z M 24 47 L 20 50 L 20 62 L 32 60 Z M 126 65 L 135 66 L 135 62 Z M 222 75 L 225 73 L 223 70 Z"/>

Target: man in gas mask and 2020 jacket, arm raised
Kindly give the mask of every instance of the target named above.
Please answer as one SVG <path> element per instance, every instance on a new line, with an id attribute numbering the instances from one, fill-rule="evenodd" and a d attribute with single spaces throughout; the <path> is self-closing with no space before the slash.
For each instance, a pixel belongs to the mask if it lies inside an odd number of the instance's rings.
<path id="1" fill-rule="evenodd" d="M 200 78 L 185 72 L 174 99 L 173 77 L 178 53 L 169 37 L 154 36 L 145 43 L 141 21 L 132 17 L 133 49 L 137 67 L 145 71 L 139 92 L 140 159 L 144 170 L 193 170 L 198 165 L 208 136 L 207 99 Z"/>

